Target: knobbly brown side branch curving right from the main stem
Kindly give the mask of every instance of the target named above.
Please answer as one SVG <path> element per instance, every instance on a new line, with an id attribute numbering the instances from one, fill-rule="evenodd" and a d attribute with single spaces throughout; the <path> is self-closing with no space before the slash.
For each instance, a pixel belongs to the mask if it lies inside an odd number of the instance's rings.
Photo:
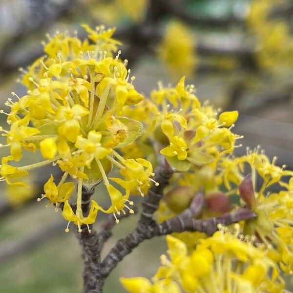
<path id="1" fill-rule="evenodd" d="M 165 185 L 166 186 L 166 185 Z M 150 195 L 153 196 L 153 188 L 151 188 Z M 159 198 L 157 197 L 153 198 Z M 146 200 L 148 202 L 148 200 Z M 146 206 L 146 205 L 145 205 Z M 154 209 L 151 205 L 151 211 Z M 155 236 L 167 235 L 173 232 L 183 231 L 200 231 L 208 235 L 212 235 L 217 229 L 218 224 L 230 225 L 242 220 L 249 220 L 256 215 L 249 209 L 237 209 L 230 213 L 225 213 L 220 217 L 213 217 L 209 219 L 193 219 L 198 215 L 203 207 L 203 195 L 198 194 L 189 209 L 183 211 L 180 215 L 168 219 L 161 224 L 158 224 L 152 218 L 144 216 L 138 222 L 135 230 L 128 234 L 124 239 L 118 240 L 116 245 L 110 250 L 108 255 L 101 263 L 102 275 L 106 278 L 109 273 L 117 266 L 117 264 L 129 254 L 135 247 L 146 239 L 151 239 Z M 147 219 L 147 220 L 146 220 Z"/>

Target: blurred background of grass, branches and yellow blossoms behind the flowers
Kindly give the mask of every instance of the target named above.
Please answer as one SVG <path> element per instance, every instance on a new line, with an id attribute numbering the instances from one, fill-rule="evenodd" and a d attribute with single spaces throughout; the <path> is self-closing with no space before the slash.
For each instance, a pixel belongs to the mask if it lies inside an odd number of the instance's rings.
<path id="1" fill-rule="evenodd" d="M 12 91 L 26 93 L 19 68 L 42 55 L 46 33 L 77 31 L 83 39 L 82 23 L 117 27 L 122 58 L 146 96 L 158 80 L 175 84 L 186 75 L 201 101 L 240 112 L 236 132 L 245 138 L 238 153 L 260 144 L 293 169 L 292 0 L 0 0 L 1 108 Z M 0 293 L 81 292 L 75 234 L 63 232 L 60 211 L 36 201 L 44 177 L 35 174 L 29 190 L 1 186 Z M 131 231 L 135 217 L 115 227 L 106 250 Z M 119 276 L 153 275 L 165 251 L 164 239 L 143 243 L 110 275 L 105 293 L 124 292 Z"/>

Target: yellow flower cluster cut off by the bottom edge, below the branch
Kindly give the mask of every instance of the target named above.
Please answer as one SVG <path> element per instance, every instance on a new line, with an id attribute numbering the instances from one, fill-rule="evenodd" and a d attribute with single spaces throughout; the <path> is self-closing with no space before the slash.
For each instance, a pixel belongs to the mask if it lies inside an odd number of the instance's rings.
<path id="1" fill-rule="evenodd" d="M 143 277 L 121 278 L 121 282 L 131 293 L 283 292 L 274 262 L 266 251 L 253 246 L 253 240 L 220 230 L 188 253 L 184 242 L 167 236 L 169 259 L 161 256 L 153 283 Z"/>

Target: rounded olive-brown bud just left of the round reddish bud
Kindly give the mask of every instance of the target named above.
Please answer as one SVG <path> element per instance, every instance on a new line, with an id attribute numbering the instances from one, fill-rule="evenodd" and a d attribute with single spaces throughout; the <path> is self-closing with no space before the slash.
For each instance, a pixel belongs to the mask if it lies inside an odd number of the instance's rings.
<path id="1" fill-rule="evenodd" d="M 194 188 L 189 186 L 179 186 L 171 189 L 163 198 L 169 209 L 175 213 L 181 213 L 189 208 L 195 195 L 196 192 Z"/>

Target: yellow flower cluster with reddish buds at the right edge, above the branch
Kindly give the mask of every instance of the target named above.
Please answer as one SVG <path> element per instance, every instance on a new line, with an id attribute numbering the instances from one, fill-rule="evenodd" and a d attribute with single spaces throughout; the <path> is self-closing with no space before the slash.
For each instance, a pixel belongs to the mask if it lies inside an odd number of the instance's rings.
<path id="1" fill-rule="evenodd" d="M 202 218 L 247 207 L 257 216 L 241 225 L 242 233 L 255 237 L 255 244 L 265 246 L 268 257 L 282 271 L 292 273 L 293 171 L 286 166 L 278 167 L 275 162 L 276 157 L 270 160 L 257 146 L 253 150 L 248 148 L 246 155 L 224 155 L 197 170 L 179 173 L 173 178 L 177 186 L 168 188 L 157 217 L 164 221 L 187 209 L 199 190 L 203 190 L 205 196 Z M 271 192 L 271 186 L 276 184 L 281 190 Z M 174 236 L 181 239 L 189 251 L 207 237 L 199 232 L 175 233 Z"/>

